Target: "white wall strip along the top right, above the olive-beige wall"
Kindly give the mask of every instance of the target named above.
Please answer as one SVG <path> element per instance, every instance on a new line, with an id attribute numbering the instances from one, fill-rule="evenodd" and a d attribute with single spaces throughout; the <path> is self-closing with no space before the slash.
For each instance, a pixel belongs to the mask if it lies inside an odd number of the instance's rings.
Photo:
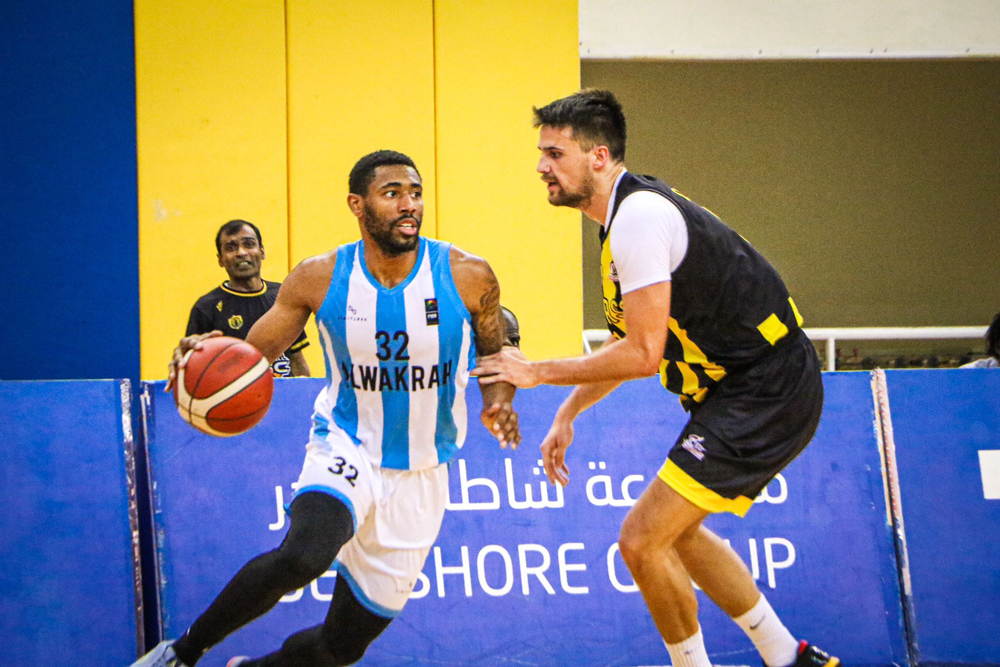
<path id="1" fill-rule="evenodd" d="M 996 0 L 580 0 L 582 58 L 998 55 Z"/>

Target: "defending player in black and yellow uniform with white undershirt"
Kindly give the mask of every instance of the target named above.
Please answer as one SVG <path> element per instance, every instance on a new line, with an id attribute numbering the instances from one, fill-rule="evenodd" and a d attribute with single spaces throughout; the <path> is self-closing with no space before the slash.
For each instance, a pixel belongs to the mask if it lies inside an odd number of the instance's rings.
<path id="1" fill-rule="evenodd" d="M 619 546 L 674 667 L 709 667 L 692 579 L 753 641 L 768 667 L 836 667 L 796 639 L 739 556 L 702 525 L 742 516 L 808 444 L 823 405 L 820 365 L 777 271 L 708 210 L 625 169 L 625 116 L 585 90 L 535 109 L 549 203 L 601 224 L 604 312 L 595 354 L 530 362 L 500 352 L 480 382 L 577 385 L 542 443 L 566 484 L 573 420 L 622 381 L 659 372 L 691 419 L 622 524 Z"/>

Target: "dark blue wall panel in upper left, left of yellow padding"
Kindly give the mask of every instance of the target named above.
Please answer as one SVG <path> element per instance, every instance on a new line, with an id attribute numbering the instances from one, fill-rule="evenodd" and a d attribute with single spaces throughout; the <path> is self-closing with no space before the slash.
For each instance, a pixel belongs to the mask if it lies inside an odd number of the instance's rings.
<path id="1" fill-rule="evenodd" d="M 139 377 L 132 3 L 0 2 L 0 379 Z"/>

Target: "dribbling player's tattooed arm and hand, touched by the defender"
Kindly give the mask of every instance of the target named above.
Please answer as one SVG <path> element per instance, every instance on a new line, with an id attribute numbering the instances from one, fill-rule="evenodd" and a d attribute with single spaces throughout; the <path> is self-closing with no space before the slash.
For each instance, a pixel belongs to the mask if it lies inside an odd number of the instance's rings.
<path id="1" fill-rule="evenodd" d="M 457 248 L 451 250 L 452 275 L 458 293 L 472 315 L 476 352 L 493 354 L 509 345 L 507 326 L 500 308 L 500 284 L 490 265 L 480 257 Z M 497 388 L 494 389 L 493 387 Z M 516 448 L 521 442 L 517 413 L 511 404 L 515 387 L 506 382 L 480 384 L 483 412 L 480 419 L 501 447 Z"/>

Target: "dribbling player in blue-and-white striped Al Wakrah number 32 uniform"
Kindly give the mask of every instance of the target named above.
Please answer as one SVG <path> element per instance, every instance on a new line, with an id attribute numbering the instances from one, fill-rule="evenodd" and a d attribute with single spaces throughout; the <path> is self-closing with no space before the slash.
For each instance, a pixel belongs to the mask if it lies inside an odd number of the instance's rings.
<path id="1" fill-rule="evenodd" d="M 229 667 L 357 662 L 403 609 L 437 538 L 447 464 L 466 434 L 469 370 L 477 354 L 509 342 L 500 287 L 485 260 L 420 236 L 422 185 L 410 158 L 366 155 L 349 187 L 361 241 L 299 264 L 247 336 L 273 360 L 315 314 L 326 356 L 288 534 L 247 563 L 180 639 L 137 666 L 194 667 L 331 565 L 338 576 L 326 620 Z M 181 341 L 168 387 L 184 354 L 212 335 Z M 482 393 L 483 424 L 501 447 L 516 447 L 513 386 L 482 385 Z"/>

